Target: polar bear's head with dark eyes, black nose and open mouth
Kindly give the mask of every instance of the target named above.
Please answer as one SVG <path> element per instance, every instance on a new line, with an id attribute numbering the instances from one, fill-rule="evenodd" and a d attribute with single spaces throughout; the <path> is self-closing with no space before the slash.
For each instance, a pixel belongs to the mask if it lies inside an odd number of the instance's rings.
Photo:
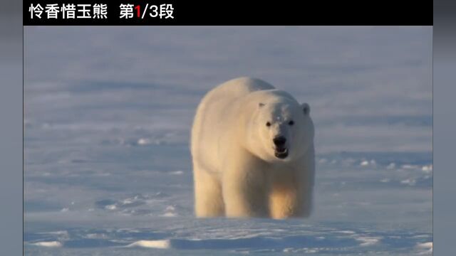
<path id="1" fill-rule="evenodd" d="M 310 106 L 290 95 L 257 102 L 248 122 L 247 147 L 264 161 L 294 161 L 314 143 Z"/>

